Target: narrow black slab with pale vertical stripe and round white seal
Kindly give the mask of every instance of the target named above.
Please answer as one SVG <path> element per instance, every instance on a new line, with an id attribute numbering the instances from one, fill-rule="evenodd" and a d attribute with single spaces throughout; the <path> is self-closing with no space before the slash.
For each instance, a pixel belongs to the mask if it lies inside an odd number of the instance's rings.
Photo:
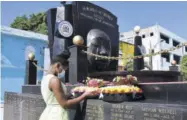
<path id="1" fill-rule="evenodd" d="M 46 12 L 48 40 L 51 58 L 72 45 L 72 6 L 64 4 Z"/>

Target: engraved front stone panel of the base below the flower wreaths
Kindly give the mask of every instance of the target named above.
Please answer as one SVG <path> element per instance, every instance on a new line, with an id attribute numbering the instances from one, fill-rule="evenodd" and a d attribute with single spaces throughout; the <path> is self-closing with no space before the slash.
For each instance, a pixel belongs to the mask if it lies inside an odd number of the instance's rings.
<path id="1" fill-rule="evenodd" d="M 85 120 L 186 120 L 187 105 L 88 100 Z"/>

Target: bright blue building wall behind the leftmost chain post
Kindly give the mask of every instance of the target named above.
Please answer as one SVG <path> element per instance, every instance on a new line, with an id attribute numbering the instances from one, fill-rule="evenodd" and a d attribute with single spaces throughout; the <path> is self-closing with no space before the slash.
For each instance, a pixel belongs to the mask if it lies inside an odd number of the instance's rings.
<path id="1" fill-rule="evenodd" d="M 28 47 L 29 46 L 29 47 Z M 34 51 L 38 65 L 44 65 L 44 40 L 1 34 L 1 100 L 4 92 L 21 92 L 25 78 L 25 61 L 29 51 Z M 41 80 L 43 71 L 37 71 L 37 80 Z"/>

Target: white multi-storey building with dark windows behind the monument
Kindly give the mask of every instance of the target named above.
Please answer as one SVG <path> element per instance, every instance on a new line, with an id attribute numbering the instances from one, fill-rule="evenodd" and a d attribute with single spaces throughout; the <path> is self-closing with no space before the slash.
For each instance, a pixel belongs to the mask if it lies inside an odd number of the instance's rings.
<path id="1" fill-rule="evenodd" d="M 146 54 L 150 53 L 150 49 L 154 49 L 154 52 L 165 50 L 171 47 L 175 47 L 180 43 L 187 42 L 185 39 L 177 36 L 175 33 L 168 31 L 167 29 L 154 25 L 148 28 L 140 30 L 140 36 L 142 36 L 142 44 L 146 48 Z M 120 33 L 120 41 L 134 44 L 134 31 Z M 175 60 L 177 64 L 180 63 L 181 56 L 187 54 L 187 46 L 169 52 L 168 54 L 156 55 L 152 57 L 153 70 L 169 70 L 171 62 Z M 150 58 L 144 58 L 145 62 L 149 63 Z"/>

